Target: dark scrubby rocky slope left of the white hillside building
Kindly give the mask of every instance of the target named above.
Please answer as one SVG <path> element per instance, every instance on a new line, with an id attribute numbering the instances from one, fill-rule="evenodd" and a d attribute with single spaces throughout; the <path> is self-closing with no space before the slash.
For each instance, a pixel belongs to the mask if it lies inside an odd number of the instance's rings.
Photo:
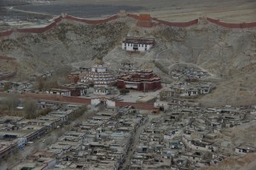
<path id="1" fill-rule="evenodd" d="M 61 65 L 103 57 L 128 31 L 122 22 L 100 26 L 61 23 L 43 34 L 24 34 L 0 42 L 0 54 L 14 57 L 27 76 Z"/>

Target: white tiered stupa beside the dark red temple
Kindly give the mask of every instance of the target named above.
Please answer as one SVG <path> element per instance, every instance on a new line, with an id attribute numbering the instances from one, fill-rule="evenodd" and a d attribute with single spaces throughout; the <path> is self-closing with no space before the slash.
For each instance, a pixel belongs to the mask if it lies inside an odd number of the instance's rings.
<path id="1" fill-rule="evenodd" d="M 113 71 L 108 70 L 108 65 L 105 65 L 102 59 L 96 59 L 96 64 L 90 68 L 81 82 L 92 83 L 95 88 L 106 88 L 116 82 L 116 77 L 113 75 Z"/>

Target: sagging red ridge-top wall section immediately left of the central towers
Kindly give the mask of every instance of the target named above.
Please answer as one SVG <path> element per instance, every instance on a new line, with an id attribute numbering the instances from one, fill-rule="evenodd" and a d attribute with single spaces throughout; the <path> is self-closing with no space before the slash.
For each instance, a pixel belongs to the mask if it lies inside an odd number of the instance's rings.
<path id="1" fill-rule="evenodd" d="M 78 22 L 83 22 L 85 24 L 91 24 L 91 25 L 104 24 L 110 20 L 116 20 L 117 18 L 118 18 L 117 14 L 114 14 L 113 16 L 110 16 L 106 19 L 100 19 L 100 20 L 87 20 L 87 19 L 77 18 L 77 17 L 71 16 L 71 15 L 66 16 L 67 20 L 74 20 L 74 21 L 78 21 Z"/>

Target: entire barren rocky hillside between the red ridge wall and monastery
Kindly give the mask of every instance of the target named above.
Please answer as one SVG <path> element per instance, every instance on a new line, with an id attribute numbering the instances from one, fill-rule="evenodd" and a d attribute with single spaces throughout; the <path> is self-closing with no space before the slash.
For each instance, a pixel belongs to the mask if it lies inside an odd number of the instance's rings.
<path id="1" fill-rule="evenodd" d="M 129 24 L 128 24 L 129 23 Z M 218 84 L 201 99 L 205 105 L 244 105 L 256 101 L 256 29 L 225 29 L 201 20 L 198 26 L 138 28 L 135 20 L 121 18 L 87 26 L 63 22 L 43 34 L 14 35 L 0 42 L 0 54 L 19 62 L 26 76 L 55 70 L 60 65 L 90 66 L 96 56 L 117 69 L 123 59 L 152 68 L 172 81 L 168 73 L 188 66 L 208 71 Z M 144 54 L 121 50 L 126 36 L 155 37 L 156 46 Z M 19 77 L 20 78 L 20 77 Z"/>

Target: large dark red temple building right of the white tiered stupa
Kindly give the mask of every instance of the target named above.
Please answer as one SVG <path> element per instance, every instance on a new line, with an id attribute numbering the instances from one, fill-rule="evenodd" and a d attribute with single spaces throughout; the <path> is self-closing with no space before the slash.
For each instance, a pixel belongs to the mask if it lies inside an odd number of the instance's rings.
<path id="1" fill-rule="evenodd" d="M 153 71 L 136 71 L 134 74 L 126 74 L 118 78 L 119 88 L 132 88 L 138 91 L 150 92 L 161 88 L 160 77 Z"/>

